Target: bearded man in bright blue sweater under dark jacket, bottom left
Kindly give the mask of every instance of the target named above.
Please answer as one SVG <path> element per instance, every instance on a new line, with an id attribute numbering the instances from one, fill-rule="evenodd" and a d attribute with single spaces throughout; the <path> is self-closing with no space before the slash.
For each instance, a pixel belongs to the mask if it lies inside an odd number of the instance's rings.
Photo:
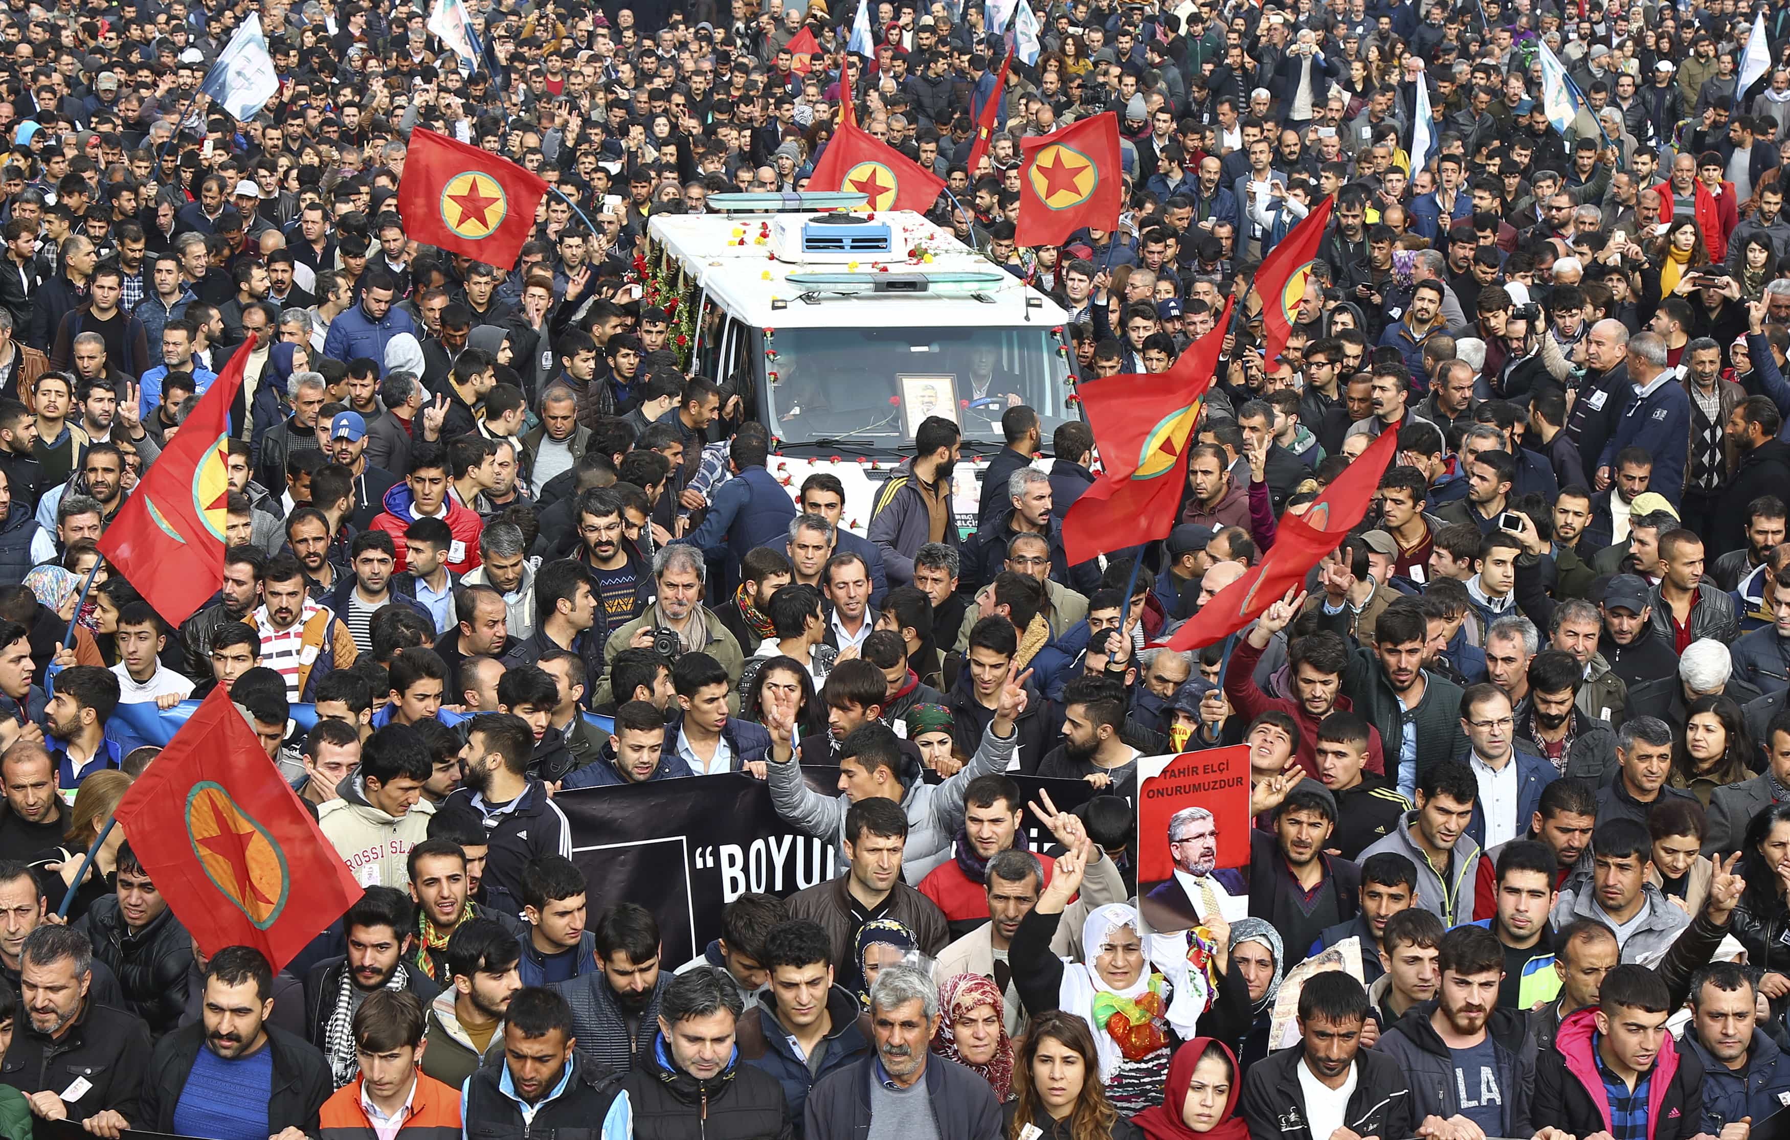
<path id="1" fill-rule="evenodd" d="M 267 957 L 252 947 L 218 950 L 204 970 L 200 1020 L 156 1045 L 141 1108 L 100 1113 L 88 1131 L 107 1140 L 127 1127 L 202 1136 L 252 1129 L 272 1140 L 315 1135 L 329 1067 L 303 1038 L 272 1025 L 272 1013 Z"/>

